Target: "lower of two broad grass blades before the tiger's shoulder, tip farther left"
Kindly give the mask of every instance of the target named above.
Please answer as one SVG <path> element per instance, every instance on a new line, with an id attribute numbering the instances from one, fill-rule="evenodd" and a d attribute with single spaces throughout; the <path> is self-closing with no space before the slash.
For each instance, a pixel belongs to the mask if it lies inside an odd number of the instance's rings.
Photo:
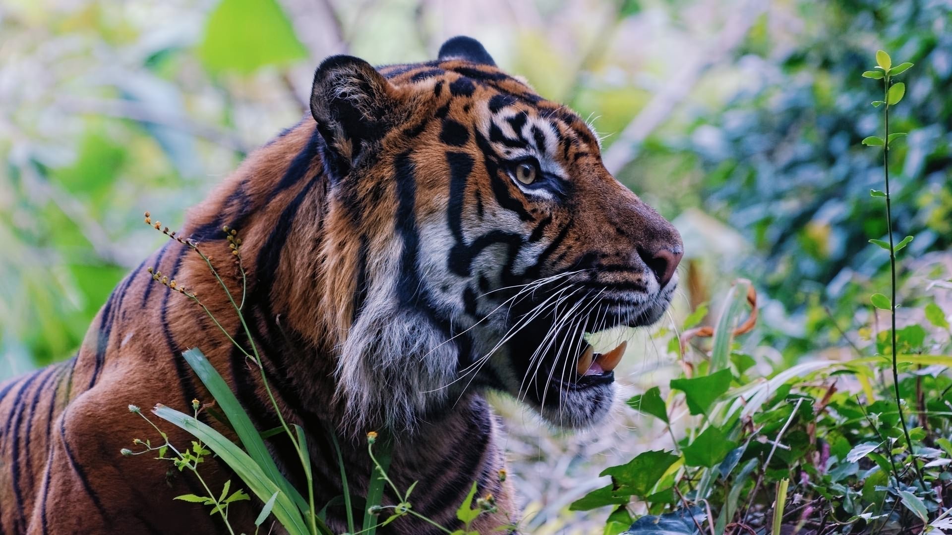
<path id="1" fill-rule="evenodd" d="M 240 447 L 229 441 L 225 435 L 205 423 L 195 420 L 188 414 L 169 406 L 157 405 L 152 408 L 152 412 L 159 418 L 185 429 L 205 443 L 228 467 L 234 470 L 235 474 L 248 485 L 248 488 L 259 499 L 268 499 L 280 490 L 278 485 L 268 478 L 261 466 L 255 463 Z M 305 535 L 308 532 L 301 511 L 284 493 L 280 493 L 278 496 L 274 507 L 274 517 L 292 535 Z M 318 523 L 318 529 L 322 534 L 330 535 L 330 530 L 323 522 Z"/>

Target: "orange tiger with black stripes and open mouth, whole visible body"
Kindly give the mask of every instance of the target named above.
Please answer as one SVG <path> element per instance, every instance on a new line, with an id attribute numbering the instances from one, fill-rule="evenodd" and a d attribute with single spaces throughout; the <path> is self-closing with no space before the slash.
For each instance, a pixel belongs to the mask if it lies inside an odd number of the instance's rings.
<path id="1" fill-rule="evenodd" d="M 244 295 L 249 336 L 205 261 L 173 239 L 114 288 L 72 358 L 0 386 L 0 532 L 225 532 L 201 505 L 173 500 L 203 494 L 188 471 L 120 455 L 149 438 L 129 404 L 190 413 L 192 400 L 211 401 L 182 358 L 189 347 L 265 430 L 279 422 L 238 346 L 250 337 L 260 348 L 276 405 L 305 429 L 315 502 L 329 504 L 335 533 L 347 530 L 335 438 L 351 495 L 365 496 L 372 475 L 367 432 L 388 430 L 387 474 L 417 483 L 413 509 L 459 528 L 475 483 L 495 507 L 471 528 L 488 533 L 515 530 L 520 516 L 486 394 L 565 428 L 611 410 L 625 345 L 598 353 L 586 340 L 656 322 L 684 250 L 605 169 L 577 113 L 465 36 L 424 63 L 328 57 L 309 111 L 188 210 L 177 234 L 200 244 L 230 297 Z M 241 238 L 244 290 L 229 275 L 228 235 Z M 221 328 L 156 272 L 188 285 Z M 172 444 L 192 440 L 168 427 Z M 307 495 L 288 437 L 267 441 Z M 211 488 L 233 476 L 212 459 L 201 473 Z M 385 489 L 382 503 L 395 501 Z M 228 520 L 250 532 L 259 510 L 235 505 Z M 412 516 L 380 528 L 441 531 Z"/>

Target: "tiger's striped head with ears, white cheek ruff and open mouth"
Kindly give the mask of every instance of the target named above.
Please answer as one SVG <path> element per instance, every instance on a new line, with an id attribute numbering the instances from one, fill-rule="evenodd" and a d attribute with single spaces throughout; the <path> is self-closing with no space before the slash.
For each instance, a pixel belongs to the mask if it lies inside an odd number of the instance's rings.
<path id="1" fill-rule="evenodd" d="M 439 59 L 325 60 L 310 109 L 329 177 L 320 266 L 355 426 L 414 426 L 466 388 L 598 421 L 625 345 L 677 285 L 678 231 L 605 169 L 574 112 L 455 37 Z"/>

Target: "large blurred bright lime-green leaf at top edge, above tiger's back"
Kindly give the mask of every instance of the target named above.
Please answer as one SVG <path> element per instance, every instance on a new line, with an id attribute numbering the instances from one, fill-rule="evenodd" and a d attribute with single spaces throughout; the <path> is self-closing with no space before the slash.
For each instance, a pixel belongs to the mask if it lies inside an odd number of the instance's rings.
<path id="1" fill-rule="evenodd" d="M 208 15 L 198 56 L 212 72 L 248 74 L 307 58 L 275 0 L 222 0 Z"/>

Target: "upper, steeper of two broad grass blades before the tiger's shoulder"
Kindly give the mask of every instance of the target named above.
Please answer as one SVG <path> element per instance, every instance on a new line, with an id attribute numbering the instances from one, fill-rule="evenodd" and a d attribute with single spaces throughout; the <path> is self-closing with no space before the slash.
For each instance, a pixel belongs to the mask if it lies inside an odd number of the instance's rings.
<path id="1" fill-rule="evenodd" d="M 238 435 L 242 446 L 245 446 L 245 450 L 248 451 L 248 456 L 251 457 L 257 466 L 261 467 L 269 480 L 273 481 L 275 485 L 278 485 L 282 494 L 290 497 L 298 506 L 298 509 L 307 515 L 310 510 L 309 505 L 307 505 L 301 493 L 291 486 L 281 471 L 278 470 L 278 466 L 274 463 L 268 451 L 268 446 L 265 446 L 265 441 L 262 440 L 258 429 L 251 424 L 248 413 L 245 412 L 244 407 L 238 402 L 238 398 L 235 397 L 234 392 L 228 387 L 228 383 L 226 383 L 218 371 L 211 366 L 211 363 L 208 362 L 208 359 L 201 350 L 193 347 L 182 353 L 182 356 L 185 357 L 188 366 L 195 372 L 195 375 L 202 380 L 202 384 L 208 388 L 208 392 L 215 398 L 218 407 L 221 408 L 228 417 L 228 422 L 234 427 L 235 433 Z M 271 493 L 268 492 L 268 496 L 270 495 Z M 268 496 L 259 496 L 259 498 L 265 500 Z"/>

